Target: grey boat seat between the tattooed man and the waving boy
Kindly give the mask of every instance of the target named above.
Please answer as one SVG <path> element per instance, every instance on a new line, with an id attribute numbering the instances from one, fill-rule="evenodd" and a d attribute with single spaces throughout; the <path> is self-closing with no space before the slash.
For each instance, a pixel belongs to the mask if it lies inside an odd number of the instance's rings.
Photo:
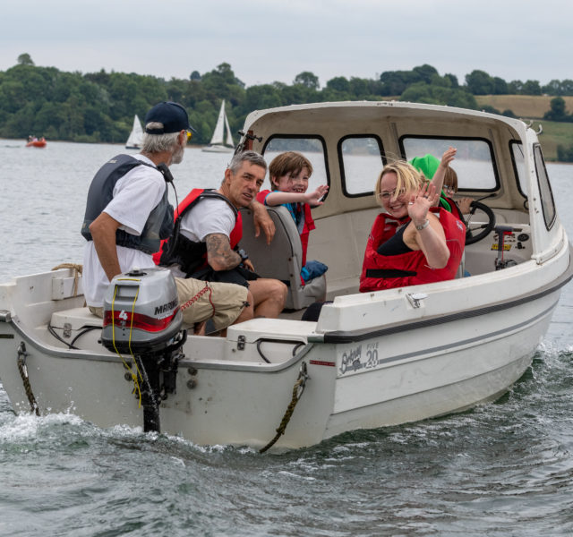
<path id="1" fill-rule="evenodd" d="M 323 301 L 326 294 L 326 277 L 316 277 L 305 286 L 301 282 L 303 247 L 293 217 L 284 207 L 268 207 L 275 223 L 275 236 L 270 244 L 261 232 L 254 236 L 252 210 L 241 209 L 243 238 L 240 247 L 249 254 L 255 272 L 261 277 L 272 277 L 288 285 L 286 310 L 302 310 L 312 303 Z"/>

